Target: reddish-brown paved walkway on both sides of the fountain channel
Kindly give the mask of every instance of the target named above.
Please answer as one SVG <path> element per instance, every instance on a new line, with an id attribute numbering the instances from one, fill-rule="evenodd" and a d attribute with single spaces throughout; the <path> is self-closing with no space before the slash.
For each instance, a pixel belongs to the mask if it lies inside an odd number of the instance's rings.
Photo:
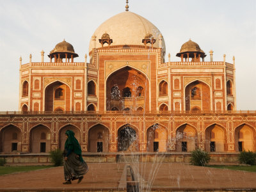
<path id="1" fill-rule="evenodd" d="M 256 173 L 220 170 L 182 163 L 130 164 L 150 189 L 255 189 Z M 124 163 L 88 163 L 80 184 L 63 185 L 63 166 L 0 176 L 0 191 L 86 191 L 118 189 Z M 123 175 L 123 176 L 122 176 Z M 142 184 L 141 184 L 142 185 Z"/>

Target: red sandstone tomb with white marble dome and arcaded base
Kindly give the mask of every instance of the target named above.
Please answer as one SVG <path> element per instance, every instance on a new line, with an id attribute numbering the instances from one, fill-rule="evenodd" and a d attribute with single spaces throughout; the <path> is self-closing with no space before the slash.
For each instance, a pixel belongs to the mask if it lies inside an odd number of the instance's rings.
<path id="1" fill-rule="evenodd" d="M 212 54 L 188 40 L 180 61 L 165 60 L 159 29 L 127 8 L 95 30 L 84 62 L 65 40 L 47 61 L 20 58 L 19 112 L 0 114 L 0 152 L 63 149 L 67 129 L 84 154 L 256 151 L 256 111 L 236 109 L 235 58 Z"/>

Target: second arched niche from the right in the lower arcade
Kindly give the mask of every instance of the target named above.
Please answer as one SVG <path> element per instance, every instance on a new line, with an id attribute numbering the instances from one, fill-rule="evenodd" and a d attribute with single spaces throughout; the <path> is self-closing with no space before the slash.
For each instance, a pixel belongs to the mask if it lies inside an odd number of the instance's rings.
<path id="1" fill-rule="evenodd" d="M 205 129 L 205 150 L 207 152 L 225 152 L 226 131 L 214 124 Z"/>

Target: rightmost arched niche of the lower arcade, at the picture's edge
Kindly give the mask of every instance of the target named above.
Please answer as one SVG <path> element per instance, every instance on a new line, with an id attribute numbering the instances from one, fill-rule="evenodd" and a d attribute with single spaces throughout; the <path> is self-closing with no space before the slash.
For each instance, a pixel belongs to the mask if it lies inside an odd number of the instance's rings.
<path id="1" fill-rule="evenodd" d="M 239 125 L 235 129 L 235 150 L 255 151 L 255 129 L 250 125 Z"/>

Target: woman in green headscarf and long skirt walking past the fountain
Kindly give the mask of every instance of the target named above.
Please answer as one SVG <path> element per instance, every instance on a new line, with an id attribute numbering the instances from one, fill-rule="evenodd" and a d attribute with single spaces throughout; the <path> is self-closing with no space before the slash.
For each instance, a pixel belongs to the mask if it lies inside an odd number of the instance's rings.
<path id="1" fill-rule="evenodd" d="M 75 133 L 71 130 L 65 132 L 67 140 L 65 142 L 64 156 L 64 175 L 63 184 L 71 184 L 71 180 L 78 179 L 81 182 L 83 175 L 88 172 L 88 166 L 82 157 L 81 146 L 75 138 Z"/>

